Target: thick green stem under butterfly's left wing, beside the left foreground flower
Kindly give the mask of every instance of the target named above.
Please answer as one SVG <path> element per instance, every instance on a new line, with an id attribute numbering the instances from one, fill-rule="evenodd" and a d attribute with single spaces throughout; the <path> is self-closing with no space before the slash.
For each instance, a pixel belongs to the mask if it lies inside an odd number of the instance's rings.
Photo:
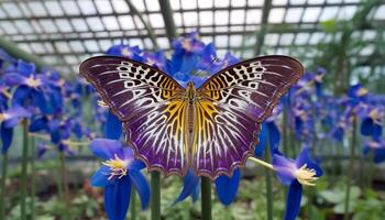
<path id="1" fill-rule="evenodd" d="M 151 219 L 161 220 L 161 173 L 151 173 Z"/>

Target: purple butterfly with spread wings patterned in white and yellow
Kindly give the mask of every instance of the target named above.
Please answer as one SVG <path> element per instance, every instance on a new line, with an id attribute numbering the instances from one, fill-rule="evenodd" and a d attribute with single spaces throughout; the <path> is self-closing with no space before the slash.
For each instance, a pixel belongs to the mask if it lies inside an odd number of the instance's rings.
<path id="1" fill-rule="evenodd" d="M 262 56 L 220 70 L 199 88 L 124 57 L 91 57 L 79 72 L 122 122 L 148 170 L 183 176 L 191 168 L 215 179 L 253 155 L 261 124 L 304 67 L 289 56 Z"/>

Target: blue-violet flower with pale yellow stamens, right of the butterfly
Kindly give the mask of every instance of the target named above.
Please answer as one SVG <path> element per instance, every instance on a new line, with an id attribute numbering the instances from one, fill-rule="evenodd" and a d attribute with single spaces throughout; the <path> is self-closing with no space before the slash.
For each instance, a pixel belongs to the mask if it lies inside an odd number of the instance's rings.
<path id="1" fill-rule="evenodd" d="M 295 220 L 299 213 L 302 185 L 315 186 L 315 180 L 322 175 L 322 169 L 310 158 L 309 147 L 304 147 L 296 161 L 276 152 L 273 156 L 273 167 L 279 182 L 289 186 L 285 220 Z"/>

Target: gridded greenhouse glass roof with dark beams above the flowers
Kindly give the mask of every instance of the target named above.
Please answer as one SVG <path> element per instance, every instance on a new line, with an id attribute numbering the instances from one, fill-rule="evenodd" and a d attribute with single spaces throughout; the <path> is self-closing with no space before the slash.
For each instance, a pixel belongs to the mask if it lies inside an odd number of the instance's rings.
<path id="1" fill-rule="evenodd" d="M 195 30 L 200 32 L 204 42 L 215 42 L 219 56 L 227 51 L 242 58 L 290 54 L 306 62 L 317 55 L 319 43 L 341 37 L 344 26 L 333 24 L 346 21 L 349 26 L 366 1 L 168 2 L 3 1 L 0 3 L 0 34 L 26 52 L 41 56 L 46 64 L 72 73 L 78 72 L 82 59 L 103 53 L 112 44 L 123 42 L 148 51 L 156 46 L 167 51 L 173 36 Z M 365 61 L 375 53 L 376 40 L 384 41 L 385 2 L 370 10 L 364 20 L 366 23 L 354 29 L 350 36 L 366 42 L 354 53 L 358 61 Z"/>

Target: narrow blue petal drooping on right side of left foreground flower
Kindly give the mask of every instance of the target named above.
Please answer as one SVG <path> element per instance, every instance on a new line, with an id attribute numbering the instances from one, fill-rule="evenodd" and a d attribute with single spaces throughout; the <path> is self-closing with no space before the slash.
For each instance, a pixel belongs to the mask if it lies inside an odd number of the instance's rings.
<path id="1" fill-rule="evenodd" d="M 139 197 L 141 198 L 142 209 L 147 208 L 150 204 L 150 186 L 147 180 L 143 174 L 138 170 L 130 170 L 129 175 L 139 194 Z"/>

